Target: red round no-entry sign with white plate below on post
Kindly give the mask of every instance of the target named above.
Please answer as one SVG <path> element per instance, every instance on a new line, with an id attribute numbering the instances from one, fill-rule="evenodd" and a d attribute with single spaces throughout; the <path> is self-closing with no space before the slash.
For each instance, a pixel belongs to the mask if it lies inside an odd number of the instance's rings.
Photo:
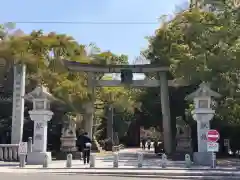
<path id="1" fill-rule="evenodd" d="M 220 138 L 220 134 L 217 130 L 211 129 L 207 132 L 207 151 L 212 152 L 212 168 L 215 168 L 216 166 L 216 155 L 215 152 L 218 152 L 219 150 L 219 144 L 217 141 Z"/>

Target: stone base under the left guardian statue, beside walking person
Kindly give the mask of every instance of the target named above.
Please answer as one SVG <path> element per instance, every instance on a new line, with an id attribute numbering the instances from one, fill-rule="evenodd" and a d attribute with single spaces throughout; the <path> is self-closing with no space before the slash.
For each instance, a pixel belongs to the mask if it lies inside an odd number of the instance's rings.
<path id="1" fill-rule="evenodd" d="M 62 152 L 75 152 L 76 148 L 76 136 L 61 137 L 61 151 Z"/>

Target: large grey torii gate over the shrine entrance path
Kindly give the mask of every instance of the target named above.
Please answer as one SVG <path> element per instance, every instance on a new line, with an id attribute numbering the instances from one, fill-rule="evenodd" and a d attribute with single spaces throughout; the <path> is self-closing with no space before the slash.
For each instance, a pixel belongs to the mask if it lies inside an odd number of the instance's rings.
<path id="1" fill-rule="evenodd" d="M 132 73 L 149 73 L 157 72 L 159 79 L 152 80 L 133 80 L 130 87 L 160 87 L 161 92 L 161 108 L 163 118 L 163 139 L 166 153 L 172 152 L 172 132 L 171 132 L 171 116 L 169 107 L 168 86 L 172 86 L 171 81 L 167 80 L 168 67 L 161 67 L 153 64 L 145 65 L 93 65 L 83 64 L 75 61 L 64 60 L 65 66 L 70 71 L 86 72 L 88 74 L 88 86 L 94 94 L 95 87 L 116 87 L 122 86 L 120 80 L 96 80 L 96 73 L 121 73 L 123 70 L 131 70 Z M 94 100 L 86 104 L 86 114 L 84 120 L 87 123 L 85 128 L 92 135 Z M 87 119 L 87 120 L 86 120 Z"/>

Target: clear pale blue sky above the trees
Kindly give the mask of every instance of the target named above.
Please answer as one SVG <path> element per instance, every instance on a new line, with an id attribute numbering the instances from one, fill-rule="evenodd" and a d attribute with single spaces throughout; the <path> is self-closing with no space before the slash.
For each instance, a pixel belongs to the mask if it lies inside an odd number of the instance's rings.
<path id="1" fill-rule="evenodd" d="M 1 3 L 0 22 L 88 21 L 153 22 L 152 24 L 17 24 L 29 33 L 43 29 L 67 33 L 82 44 L 94 42 L 102 50 L 126 54 L 132 61 L 147 47 L 146 36 L 159 27 L 158 18 L 186 0 L 7 0 Z M 156 23 L 155 23 L 156 22 Z"/>

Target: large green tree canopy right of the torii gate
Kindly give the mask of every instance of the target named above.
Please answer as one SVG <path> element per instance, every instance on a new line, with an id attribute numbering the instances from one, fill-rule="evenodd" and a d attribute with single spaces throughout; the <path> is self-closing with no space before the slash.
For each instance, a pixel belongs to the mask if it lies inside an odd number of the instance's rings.
<path id="1" fill-rule="evenodd" d="M 206 3 L 210 11 L 194 6 L 171 21 L 163 21 L 155 35 L 149 37 L 143 55 L 151 63 L 170 66 L 175 79 L 189 84 L 210 82 L 224 97 L 218 102 L 216 118 L 225 124 L 240 123 L 239 7 L 232 1 Z"/>

